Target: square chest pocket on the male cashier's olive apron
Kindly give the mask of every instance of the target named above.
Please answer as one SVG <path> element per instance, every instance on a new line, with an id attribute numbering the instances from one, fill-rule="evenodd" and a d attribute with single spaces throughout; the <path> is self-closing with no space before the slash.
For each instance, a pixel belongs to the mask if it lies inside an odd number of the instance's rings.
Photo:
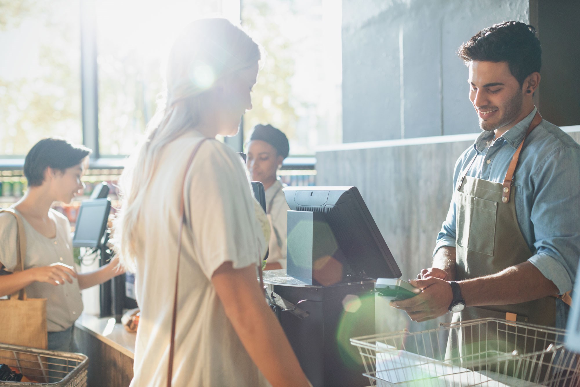
<path id="1" fill-rule="evenodd" d="M 494 255 L 497 203 L 458 192 L 457 240 L 468 250 Z"/>

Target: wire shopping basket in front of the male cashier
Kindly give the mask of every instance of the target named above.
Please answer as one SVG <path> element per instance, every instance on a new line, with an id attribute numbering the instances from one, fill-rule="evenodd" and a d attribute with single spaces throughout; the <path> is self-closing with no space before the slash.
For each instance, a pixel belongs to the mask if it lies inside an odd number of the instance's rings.
<path id="1" fill-rule="evenodd" d="M 449 348 L 445 337 L 459 337 Z M 372 386 L 580 386 L 565 330 L 497 319 L 351 338 Z M 473 339 L 474 338 L 474 339 Z"/>

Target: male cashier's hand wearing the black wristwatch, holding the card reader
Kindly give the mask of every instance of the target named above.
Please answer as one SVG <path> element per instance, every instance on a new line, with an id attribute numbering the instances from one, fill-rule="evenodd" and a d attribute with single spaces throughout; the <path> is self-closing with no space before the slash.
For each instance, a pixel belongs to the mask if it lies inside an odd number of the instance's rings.
<path id="1" fill-rule="evenodd" d="M 436 319 L 449 311 L 453 292 L 447 281 L 437 277 L 429 277 L 424 280 L 412 280 L 410 283 L 421 289 L 422 292 L 403 301 L 391 301 L 390 305 L 393 308 L 404 310 L 411 317 L 411 320 L 418 323 Z"/>

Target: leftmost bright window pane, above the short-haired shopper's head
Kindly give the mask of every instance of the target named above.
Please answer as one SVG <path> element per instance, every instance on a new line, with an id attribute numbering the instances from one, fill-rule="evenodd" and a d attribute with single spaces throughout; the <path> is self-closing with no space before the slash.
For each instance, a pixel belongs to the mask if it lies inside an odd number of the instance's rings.
<path id="1" fill-rule="evenodd" d="M 0 158 L 82 143 L 79 2 L 0 2 Z"/>

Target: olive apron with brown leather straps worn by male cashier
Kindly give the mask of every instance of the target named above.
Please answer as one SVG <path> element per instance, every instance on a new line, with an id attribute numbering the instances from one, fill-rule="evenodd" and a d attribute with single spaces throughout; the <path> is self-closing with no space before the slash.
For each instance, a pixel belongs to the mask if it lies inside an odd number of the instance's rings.
<path id="1" fill-rule="evenodd" d="M 526 136 L 542 121 L 536 113 Z M 516 218 L 513 172 L 516 169 L 525 136 L 513 155 L 502 183 L 466 176 L 474 157 L 456 183 L 456 280 L 467 280 L 501 272 L 507 267 L 528 260 L 533 254 L 528 248 Z M 454 313 L 453 322 L 494 317 L 549 327 L 556 326 L 556 299 L 552 296 L 513 305 L 466 307 Z M 474 325 L 449 332 L 447 359 L 465 362 L 470 355 L 483 352 L 508 352 L 515 348 L 520 353 L 530 352 L 534 343 L 519 337 L 517 343 L 506 341 L 498 324 Z M 510 335 L 513 336 L 513 335 Z M 542 343 L 543 344 L 543 343 Z M 544 349 L 544 348 L 541 348 Z"/>

